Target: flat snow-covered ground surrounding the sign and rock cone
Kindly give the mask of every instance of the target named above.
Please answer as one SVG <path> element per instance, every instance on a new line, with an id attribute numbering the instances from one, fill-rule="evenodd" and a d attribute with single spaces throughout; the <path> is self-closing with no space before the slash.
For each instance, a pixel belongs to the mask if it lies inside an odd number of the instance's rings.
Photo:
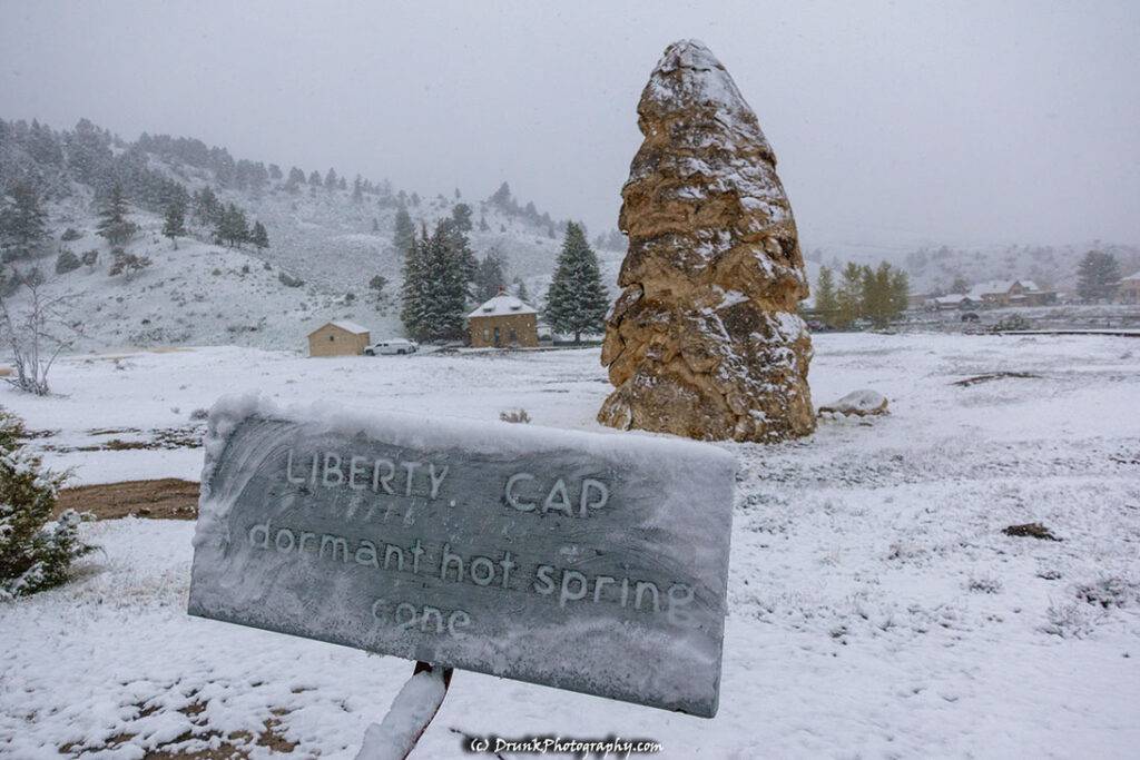
<path id="1" fill-rule="evenodd" d="M 415 757 L 462 757 L 464 735 L 490 734 L 645 737 L 669 758 L 1135 757 L 1140 340 L 831 334 L 816 349 L 816 404 L 870 387 L 893 414 L 726 447 L 742 473 L 717 718 L 459 672 Z M 1035 377 L 953 385 L 995 371 Z M 591 430 L 609 390 L 596 350 L 202 349 L 68 359 L 55 379 L 58 397 L 3 390 L 0 404 L 58 431 L 36 443 L 62 449 L 185 427 L 250 387 L 478 419 L 523 407 L 534 424 Z M 105 482 L 194 477 L 202 453 L 47 457 Z M 1064 540 L 1001 533 L 1034 521 Z M 268 757 L 260 736 L 350 758 L 412 671 L 187 618 L 189 523 L 87 530 L 103 553 L 73 582 L 0 607 L 0 754 L 142 758 L 227 739 Z"/>

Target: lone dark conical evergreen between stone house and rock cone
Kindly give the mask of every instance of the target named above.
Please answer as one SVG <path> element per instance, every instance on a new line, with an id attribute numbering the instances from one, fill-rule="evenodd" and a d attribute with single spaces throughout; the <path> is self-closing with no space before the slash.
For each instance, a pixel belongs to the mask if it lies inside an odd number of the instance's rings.
<path id="1" fill-rule="evenodd" d="M 604 329 L 608 308 L 597 256 L 581 226 L 568 222 L 557 269 L 546 293 L 546 319 L 555 330 L 572 333 L 575 343 L 580 343 L 583 333 Z"/>

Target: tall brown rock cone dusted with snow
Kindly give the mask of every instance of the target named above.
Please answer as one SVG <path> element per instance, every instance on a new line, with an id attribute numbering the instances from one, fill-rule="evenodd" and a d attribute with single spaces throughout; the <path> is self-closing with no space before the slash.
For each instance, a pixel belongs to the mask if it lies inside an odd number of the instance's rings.
<path id="1" fill-rule="evenodd" d="M 666 49 L 637 114 L 624 291 L 602 346 L 617 390 L 598 419 L 707 440 L 811 433 L 812 340 L 796 314 L 807 279 L 756 115 L 692 40 Z"/>

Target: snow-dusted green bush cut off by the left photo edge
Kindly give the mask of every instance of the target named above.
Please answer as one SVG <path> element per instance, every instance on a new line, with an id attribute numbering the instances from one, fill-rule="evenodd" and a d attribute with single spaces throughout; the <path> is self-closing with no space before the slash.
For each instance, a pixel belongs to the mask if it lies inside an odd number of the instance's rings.
<path id="1" fill-rule="evenodd" d="M 19 419 L 0 410 L 0 602 L 63 583 L 72 561 L 95 548 L 74 510 L 51 520 L 66 476 L 42 469 L 22 435 Z"/>

